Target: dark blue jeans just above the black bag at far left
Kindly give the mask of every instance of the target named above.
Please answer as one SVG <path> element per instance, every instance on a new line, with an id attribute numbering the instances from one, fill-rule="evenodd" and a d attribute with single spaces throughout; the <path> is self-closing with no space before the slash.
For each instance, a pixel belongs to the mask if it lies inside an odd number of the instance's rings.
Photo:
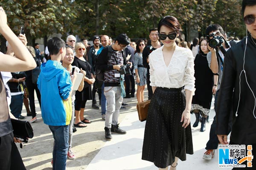
<path id="1" fill-rule="evenodd" d="M 23 94 L 12 96 L 10 109 L 13 116 L 19 118 L 23 106 Z"/>

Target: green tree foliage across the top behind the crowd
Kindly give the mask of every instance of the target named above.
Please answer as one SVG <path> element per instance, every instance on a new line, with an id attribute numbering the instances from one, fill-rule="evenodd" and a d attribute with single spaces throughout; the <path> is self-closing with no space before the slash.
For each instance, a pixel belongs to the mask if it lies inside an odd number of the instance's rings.
<path id="1" fill-rule="evenodd" d="M 91 38 L 95 34 L 148 38 L 161 17 L 177 17 L 186 36 L 218 23 L 229 36 L 243 37 L 241 0 L 0 0 L 9 26 L 17 34 L 24 26 L 29 44 L 52 33 Z M 3 42 L 1 43 L 3 44 Z"/>

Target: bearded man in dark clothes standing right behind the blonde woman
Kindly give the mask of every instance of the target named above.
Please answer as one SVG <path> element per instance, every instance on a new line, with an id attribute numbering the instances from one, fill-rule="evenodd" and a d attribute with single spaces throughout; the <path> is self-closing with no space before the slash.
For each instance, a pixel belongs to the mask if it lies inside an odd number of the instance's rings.
<path id="1" fill-rule="evenodd" d="M 100 45 L 100 38 L 98 35 L 93 36 L 93 46 L 90 48 L 88 52 L 88 62 L 92 66 L 92 74 L 95 77 L 95 62 L 96 62 L 96 57 L 97 57 L 97 52 L 101 48 Z M 93 83 L 93 104 L 92 108 L 99 110 L 99 106 L 97 106 L 97 101 L 96 101 L 96 92 L 99 94 L 99 100 L 101 99 L 101 89 L 95 87 L 95 83 Z"/>

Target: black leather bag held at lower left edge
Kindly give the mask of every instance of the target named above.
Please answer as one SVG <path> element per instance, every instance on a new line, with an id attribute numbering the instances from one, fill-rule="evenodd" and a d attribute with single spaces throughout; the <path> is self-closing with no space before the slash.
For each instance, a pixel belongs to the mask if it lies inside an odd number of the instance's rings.
<path id="1" fill-rule="evenodd" d="M 11 119 L 13 134 L 17 138 L 21 138 L 21 142 L 28 142 L 28 138 L 34 136 L 32 126 L 28 121 Z"/>

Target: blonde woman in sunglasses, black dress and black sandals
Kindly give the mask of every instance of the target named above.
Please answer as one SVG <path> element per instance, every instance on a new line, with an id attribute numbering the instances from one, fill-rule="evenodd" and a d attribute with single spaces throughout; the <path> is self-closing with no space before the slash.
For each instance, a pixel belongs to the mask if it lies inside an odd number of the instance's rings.
<path id="1" fill-rule="evenodd" d="M 86 48 L 83 43 L 79 42 L 75 47 L 76 56 L 72 65 L 75 65 L 78 68 L 82 68 L 86 71 L 86 77 L 84 77 L 84 89 L 76 91 L 76 100 L 75 100 L 75 115 L 76 120 L 74 123 L 75 127 L 87 127 L 86 123 L 91 123 L 90 120 L 84 118 L 84 108 L 87 100 L 92 99 L 92 88 L 91 84 L 94 83 L 95 79 L 93 78 L 91 68 L 92 66 L 89 62 L 84 59 L 84 54 L 86 53 Z"/>

